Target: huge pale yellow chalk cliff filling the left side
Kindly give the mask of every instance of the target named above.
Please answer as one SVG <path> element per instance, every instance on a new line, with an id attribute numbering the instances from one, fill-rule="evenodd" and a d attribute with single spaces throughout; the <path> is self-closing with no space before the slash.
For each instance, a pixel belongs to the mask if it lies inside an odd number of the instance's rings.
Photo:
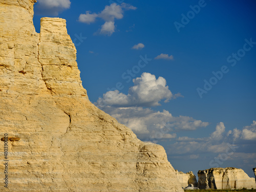
<path id="1" fill-rule="evenodd" d="M 35 2 L 0 0 L 0 134 L 16 138 L 8 140 L 8 187 L 183 191 L 162 146 L 140 141 L 90 102 L 66 20 L 42 18 L 35 32 Z"/>

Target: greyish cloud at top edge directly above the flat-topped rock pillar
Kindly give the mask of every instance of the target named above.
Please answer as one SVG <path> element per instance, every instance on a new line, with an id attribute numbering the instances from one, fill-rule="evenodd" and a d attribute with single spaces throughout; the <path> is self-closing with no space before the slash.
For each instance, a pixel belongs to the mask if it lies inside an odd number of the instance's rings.
<path id="1" fill-rule="evenodd" d="M 37 8 L 39 13 L 58 15 L 59 12 L 69 9 L 70 0 L 38 0 Z"/>

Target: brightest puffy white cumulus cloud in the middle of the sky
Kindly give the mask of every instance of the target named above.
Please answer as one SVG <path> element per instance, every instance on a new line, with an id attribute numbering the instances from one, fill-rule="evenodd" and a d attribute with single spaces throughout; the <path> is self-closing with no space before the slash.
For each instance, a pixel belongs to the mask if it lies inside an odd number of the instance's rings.
<path id="1" fill-rule="evenodd" d="M 134 86 L 129 89 L 127 95 L 118 90 L 106 92 L 97 100 L 98 105 L 158 106 L 161 100 L 168 102 L 181 96 L 170 92 L 163 77 L 157 79 L 150 73 L 143 73 L 141 77 L 133 79 L 133 83 Z"/>

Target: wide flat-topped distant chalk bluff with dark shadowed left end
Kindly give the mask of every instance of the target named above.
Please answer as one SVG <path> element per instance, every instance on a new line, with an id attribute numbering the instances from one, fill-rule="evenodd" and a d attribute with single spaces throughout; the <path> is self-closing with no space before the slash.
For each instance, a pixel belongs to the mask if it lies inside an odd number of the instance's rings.
<path id="1" fill-rule="evenodd" d="M 241 189 L 256 188 L 254 178 L 250 178 L 241 168 L 210 168 L 199 170 L 200 189 Z"/>

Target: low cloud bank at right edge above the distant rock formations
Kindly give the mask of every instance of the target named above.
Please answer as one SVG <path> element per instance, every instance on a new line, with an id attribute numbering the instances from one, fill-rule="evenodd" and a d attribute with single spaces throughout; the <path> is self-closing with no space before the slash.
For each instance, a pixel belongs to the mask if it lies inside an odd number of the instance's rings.
<path id="1" fill-rule="evenodd" d="M 220 122 L 216 125 L 215 131 L 209 137 L 192 138 L 178 137 L 176 143 L 169 145 L 169 153 L 172 154 L 198 154 L 211 153 L 215 157 L 227 156 L 228 160 L 236 160 L 243 157 L 252 162 L 250 154 L 255 152 L 256 121 L 249 126 L 244 126 L 242 130 L 233 129 L 225 131 L 225 125 Z M 255 161 L 256 162 L 256 161 Z M 246 163 L 246 162 L 245 162 Z M 219 164 L 220 165 L 220 164 Z"/>

